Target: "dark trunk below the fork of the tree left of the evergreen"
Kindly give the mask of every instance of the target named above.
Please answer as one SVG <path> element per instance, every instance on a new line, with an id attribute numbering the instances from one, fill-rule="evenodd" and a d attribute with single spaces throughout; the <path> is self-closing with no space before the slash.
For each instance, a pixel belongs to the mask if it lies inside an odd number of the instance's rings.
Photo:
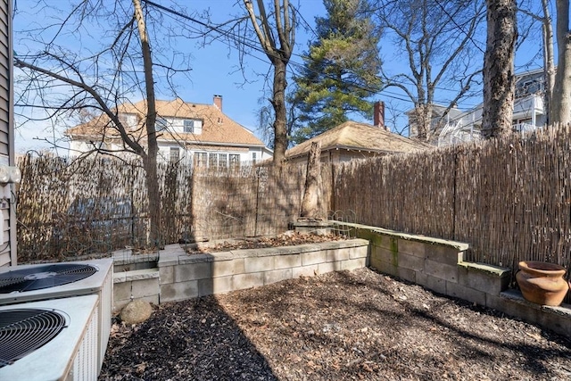
<path id="1" fill-rule="evenodd" d="M 287 115 L 285 110 L 285 69 L 286 62 L 276 58 L 274 60 L 274 97 L 272 106 L 276 120 L 274 120 L 274 165 L 281 166 L 285 160 L 287 149 Z"/>

